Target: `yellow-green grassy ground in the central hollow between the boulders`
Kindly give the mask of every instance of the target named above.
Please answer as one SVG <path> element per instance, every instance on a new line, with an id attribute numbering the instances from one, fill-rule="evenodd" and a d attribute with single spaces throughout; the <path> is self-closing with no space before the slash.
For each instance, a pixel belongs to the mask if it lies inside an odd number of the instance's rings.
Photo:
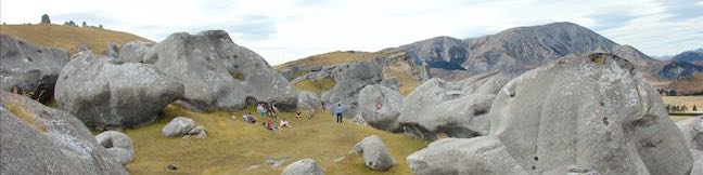
<path id="1" fill-rule="evenodd" d="M 311 158 L 318 161 L 325 174 L 382 174 L 367 169 L 358 156 L 334 162 L 347 156 L 361 138 L 375 134 L 383 138 L 397 162 L 396 166 L 383 174 L 410 174 L 405 158 L 426 146 L 422 140 L 348 121 L 336 124 L 324 111 L 317 112 L 312 120 L 297 120 L 293 113 L 282 113 L 291 121 L 293 129 L 277 132 L 242 122 L 244 111 L 254 111 L 251 107 L 238 112 L 200 113 L 168 106 L 165 111 L 162 119 L 153 124 L 125 131 L 135 142 L 137 152 L 135 161 L 126 166 L 129 173 L 280 174 L 285 165 Z M 231 120 L 232 115 L 239 120 Z M 204 125 L 209 137 L 202 140 L 163 137 L 161 129 L 176 116 L 190 117 Z M 266 159 L 285 159 L 285 162 L 280 167 L 273 167 L 264 163 Z M 177 165 L 178 170 L 167 170 L 168 164 Z M 257 164 L 260 167 L 246 170 Z"/>

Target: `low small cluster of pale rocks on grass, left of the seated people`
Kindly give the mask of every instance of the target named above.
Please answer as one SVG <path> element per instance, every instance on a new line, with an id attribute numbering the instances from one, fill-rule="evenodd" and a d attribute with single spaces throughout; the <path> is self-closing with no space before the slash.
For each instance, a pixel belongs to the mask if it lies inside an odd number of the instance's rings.
<path id="1" fill-rule="evenodd" d="M 166 137 L 207 138 L 205 127 L 196 125 L 193 119 L 186 117 L 174 118 L 162 129 L 162 135 Z"/>

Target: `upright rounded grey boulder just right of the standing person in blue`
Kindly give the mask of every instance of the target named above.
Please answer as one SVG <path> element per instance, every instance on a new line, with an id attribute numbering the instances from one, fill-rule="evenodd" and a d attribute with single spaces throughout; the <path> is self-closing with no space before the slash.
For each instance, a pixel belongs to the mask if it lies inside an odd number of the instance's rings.
<path id="1" fill-rule="evenodd" d="M 401 131 L 397 120 L 400 116 L 400 107 L 405 97 L 398 90 L 391 90 L 386 86 L 373 84 L 367 85 L 359 92 L 358 115 L 369 125 L 379 130 L 399 132 Z M 381 103 L 381 109 L 376 104 Z"/>

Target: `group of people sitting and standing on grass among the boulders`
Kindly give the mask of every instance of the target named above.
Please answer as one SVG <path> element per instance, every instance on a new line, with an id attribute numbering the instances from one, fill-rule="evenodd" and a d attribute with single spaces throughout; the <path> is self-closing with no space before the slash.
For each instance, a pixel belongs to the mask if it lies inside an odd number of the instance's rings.
<path id="1" fill-rule="evenodd" d="M 380 110 L 383 107 L 383 104 L 379 99 L 375 105 L 375 109 Z M 342 123 L 342 119 L 344 119 L 344 110 L 345 106 L 342 105 L 342 103 L 337 103 L 336 107 L 334 108 L 334 113 L 336 117 L 336 123 Z M 270 117 L 270 118 L 276 118 L 279 115 L 279 109 L 276 107 L 273 104 L 268 104 L 268 103 L 258 103 L 256 105 L 256 111 L 259 113 L 259 118 L 263 117 Z M 295 118 L 296 119 L 303 119 L 303 109 L 297 109 L 295 111 Z M 315 113 L 315 108 L 309 107 L 308 108 L 308 120 L 312 119 L 312 115 Z M 376 112 L 374 112 L 376 115 Z M 232 119 L 235 119 L 235 117 L 232 117 Z M 254 117 L 252 112 L 247 111 L 242 116 L 242 120 L 246 123 L 257 123 L 259 121 L 258 118 Z M 271 122 L 271 120 L 268 121 L 263 121 L 261 125 L 266 127 L 267 130 L 279 130 L 283 127 L 293 127 L 291 126 L 291 123 L 285 119 L 285 117 L 281 118 L 281 121 L 277 125 L 276 123 Z"/>

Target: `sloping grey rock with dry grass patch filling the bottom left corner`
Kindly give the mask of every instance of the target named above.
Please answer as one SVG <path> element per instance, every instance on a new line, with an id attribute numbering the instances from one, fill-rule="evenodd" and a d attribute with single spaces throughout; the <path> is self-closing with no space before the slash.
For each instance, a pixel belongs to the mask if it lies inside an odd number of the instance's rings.
<path id="1" fill-rule="evenodd" d="M 2 174 L 127 174 L 68 112 L 0 91 Z"/>

